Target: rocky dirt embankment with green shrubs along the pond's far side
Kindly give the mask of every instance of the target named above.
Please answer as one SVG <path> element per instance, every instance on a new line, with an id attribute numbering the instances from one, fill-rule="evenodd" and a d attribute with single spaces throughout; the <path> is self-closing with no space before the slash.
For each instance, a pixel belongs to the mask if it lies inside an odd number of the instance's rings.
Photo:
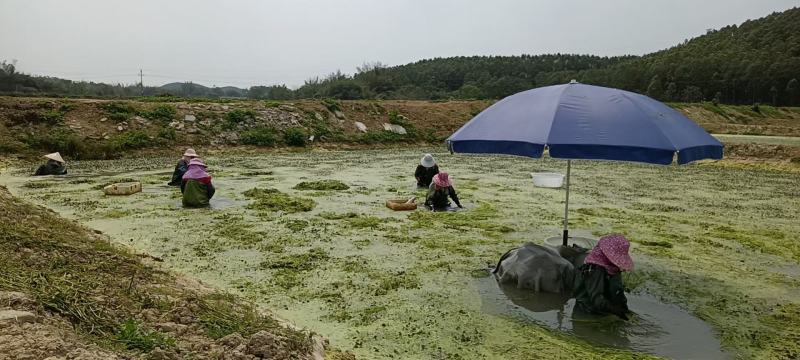
<path id="1" fill-rule="evenodd" d="M 0 97 L 0 155 L 60 151 L 113 158 L 133 151 L 440 143 L 490 101 L 294 102 L 70 100 Z M 800 136 L 800 109 L 672 104 L 715 134 Z M 789 161 L 795 145 L 730 144 L 736 158 Z"/>

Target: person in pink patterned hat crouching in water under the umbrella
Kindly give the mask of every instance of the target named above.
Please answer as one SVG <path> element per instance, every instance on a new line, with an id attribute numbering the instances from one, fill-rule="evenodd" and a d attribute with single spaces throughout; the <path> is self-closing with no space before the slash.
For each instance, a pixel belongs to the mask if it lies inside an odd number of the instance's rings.
<path id="1" fill-rule="evenodd" d="M 575 274 L 575 305 L 589 314 L 614 314 L 628 320 L 628 299 L 622 272 L 633 270 L 630 243 L 622 235 L 607 235 L 597 242 Z"/>

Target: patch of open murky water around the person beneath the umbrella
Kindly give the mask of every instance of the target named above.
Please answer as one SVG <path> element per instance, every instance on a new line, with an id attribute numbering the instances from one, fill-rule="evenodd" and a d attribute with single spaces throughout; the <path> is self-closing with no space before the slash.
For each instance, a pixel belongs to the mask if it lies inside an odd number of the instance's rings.
<path id="1" fill-rule="evenodd" d="M 483 311 L 535 322 L 594 344 L 676 359 L 725 359 L 713 329 L 681 310 L 647 295 L 628 295 L 629 321 L 575 311 L 567 295 L 534 293 L 498 285 L 493 276 L 478 281 Z"/>

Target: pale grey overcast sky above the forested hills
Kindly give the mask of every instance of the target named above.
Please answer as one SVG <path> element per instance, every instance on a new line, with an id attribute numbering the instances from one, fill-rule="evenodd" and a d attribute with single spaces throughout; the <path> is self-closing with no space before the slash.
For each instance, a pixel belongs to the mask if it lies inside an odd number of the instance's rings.
<path id="1" fill-rule="evenodd" d="M 0 0 L 0 60 L 145 85 L 295 87 L 364 62 L 641 55 L 800 0 Z"/>

